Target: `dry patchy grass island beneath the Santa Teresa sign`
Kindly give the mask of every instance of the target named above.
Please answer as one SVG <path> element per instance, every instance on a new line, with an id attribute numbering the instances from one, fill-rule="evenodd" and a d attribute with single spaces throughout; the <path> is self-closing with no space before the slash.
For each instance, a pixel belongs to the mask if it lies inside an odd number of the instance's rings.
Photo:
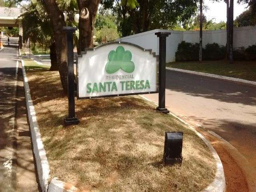
<path id="1" fill-rule="evenodd" d="M 64 127 L 68 99 L 58 72 L 25 64 L 51 178 L 92 192 L 198 192 L 214 180 L 204 142 L 139 96 L 76 100 L 80 124 Z M 184 132 L 181 166 L 162 164 L 165 131 Z"/>

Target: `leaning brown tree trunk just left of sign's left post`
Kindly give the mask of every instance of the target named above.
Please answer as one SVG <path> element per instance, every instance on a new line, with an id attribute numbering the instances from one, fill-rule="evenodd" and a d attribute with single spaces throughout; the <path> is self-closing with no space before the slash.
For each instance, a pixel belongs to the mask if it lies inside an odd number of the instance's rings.
<path id="1" fill-rule="evenodd" d="M 53 26 L 60 80 L 64 92 L 67 93 L 67 40 L 66 33 L 63 31 L 63 26 L 66 26 L 66 22 L 55 0 L 44 0 L 43 2 Z"/>

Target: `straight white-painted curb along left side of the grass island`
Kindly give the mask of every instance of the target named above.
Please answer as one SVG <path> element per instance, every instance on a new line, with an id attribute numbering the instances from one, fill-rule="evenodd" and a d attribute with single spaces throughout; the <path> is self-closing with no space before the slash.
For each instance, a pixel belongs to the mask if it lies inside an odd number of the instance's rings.
<path id="1" fill-rule="evenodd" d="M 47 192 L 48 189 L 48 179 L 49 179 L 49 164 L 46 157 L 46 151 L 44 150 L 44 144 L 41 140 L 40 130 L 38 128 L 38 123 L 36 120 L 36 112 L 34 109 L 33 101 L 30 95 L 30 89 L 28 86 L 28 79 L 26 76 L 26 71 L 24 67 L 24 61 L 21 60 L 24 91 L 26 97 L 26 108 L 28 111 L 28 122 L 30 127 L 30 133 L 33 144 L 33 152 L 36 158 L 36 168 L 38 172 L 39 184 L 43 192 Z"/>

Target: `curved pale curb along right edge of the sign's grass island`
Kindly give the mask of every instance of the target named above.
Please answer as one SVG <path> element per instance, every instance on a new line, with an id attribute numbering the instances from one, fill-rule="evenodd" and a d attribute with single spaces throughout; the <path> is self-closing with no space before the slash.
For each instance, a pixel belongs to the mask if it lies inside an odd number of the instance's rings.
<path id="1" fill-rule="evenodd" d="M 139 95 L 141 98 L 143 98 L 144 100 L 147 100 L 149 102 L 152 102 L 153 104 L 155 104 L 156 106 L 158 106 L 158 104 L 156 102 L 153 102 L 151 100 L 149 100 L 148 98 Z M 215 151 L 215 149 L 212 147 L 212 145 L 210 144 L 210 142 L 208 142 L 208 140 L 206 140 L 206 138 L 204 138 L 204 136 L 202 136 L 202 134 L 200 134 L 199 132 L 197 132 L 194 127 L 190 124 L 188 124 L 187 122 L 185 122 L 184 120 L 182 120 L 181 118 L 179 118 L 178 116 L 176 116 L 175 114 L 173 114 L 172 112 L 170 112 L 171 116 L 174 116 L 175 118 L 177 118 L 178 120 L 180 120 L 182 123 L 184 123 L 185 125 L 188 126 L 188 128 L 190 128 L 191 130 L 193 130 L 196 135 L 198 135 L 206 144 L 206 146 L 208 146 L 209 150 L 212 153 L 212 156 L 214 157 L 215 161 L 216 161 L 216 174 L 215 174 L 215 178 L 214 181 L 204 190 L 202 190 L 202 192 L 225 192 L 226 191 L 226 182 L 225 182 L 225 175 L 224 175 L 224 169 L 222 166 L 222 162 L 220 160 L 220 157 L 218 156 L 217 152 Z"/>

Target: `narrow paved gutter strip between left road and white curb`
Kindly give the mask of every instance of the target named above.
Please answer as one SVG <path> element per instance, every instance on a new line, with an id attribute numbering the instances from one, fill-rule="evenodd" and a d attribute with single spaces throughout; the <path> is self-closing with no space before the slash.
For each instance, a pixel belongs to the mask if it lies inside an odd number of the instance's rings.
<path id="1" fill-rule="evenodd" d="M 16 108 L 16 192 L 38 192 L 21 63 L 18 70 Z"/>

